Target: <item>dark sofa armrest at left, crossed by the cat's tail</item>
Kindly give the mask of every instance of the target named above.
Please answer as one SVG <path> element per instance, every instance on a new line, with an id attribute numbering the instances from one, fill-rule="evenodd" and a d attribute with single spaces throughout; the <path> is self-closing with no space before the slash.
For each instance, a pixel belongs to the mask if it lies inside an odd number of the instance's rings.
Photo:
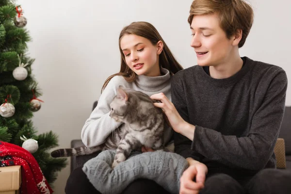
<path id="1" fill-rule="evenodd" d="M 71 147 L 79 147 L 79 146 L 84 146 L 82 143 L 81 139 L 79 140 L 72 140 L 71 141 Z M 71 157 L 71 173 L 73 172 L 74 169 L 83 166 L 85 162 L 88 160 L 95 158 L 100 151 L 89 154 L 89 155 L 81 155 L 81 156 L 72 156 Z"/>

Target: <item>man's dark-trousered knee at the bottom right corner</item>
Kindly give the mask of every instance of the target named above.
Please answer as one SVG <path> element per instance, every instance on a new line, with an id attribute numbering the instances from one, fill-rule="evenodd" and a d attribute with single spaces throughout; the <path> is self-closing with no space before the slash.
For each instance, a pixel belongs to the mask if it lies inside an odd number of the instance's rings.
<path id="1" fill-rule="evenodd" d="M 291 191 L 291 172 L 264 169 L 246 185 L 249 194 L 286 194 Z"/>

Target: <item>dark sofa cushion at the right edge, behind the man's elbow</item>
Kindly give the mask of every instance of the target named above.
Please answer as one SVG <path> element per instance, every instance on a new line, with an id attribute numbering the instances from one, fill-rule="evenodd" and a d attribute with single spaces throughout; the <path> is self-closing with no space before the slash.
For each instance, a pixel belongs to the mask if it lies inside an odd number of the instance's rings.
<path id="1" fill-rule="evenodd" d="M 285 142 L 286 154 L 291 154 L 291 107 L 285 107 L 285 113 L 280 128 L 279 138 L 283 138 Z"/>

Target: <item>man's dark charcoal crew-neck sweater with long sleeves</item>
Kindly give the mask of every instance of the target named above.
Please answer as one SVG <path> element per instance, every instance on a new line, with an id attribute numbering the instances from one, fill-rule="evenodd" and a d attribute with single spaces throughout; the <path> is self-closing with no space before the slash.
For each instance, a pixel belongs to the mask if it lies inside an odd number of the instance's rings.
<path id="1" fill-rule="evenodd" d="M 226 79 L 213 79 L 198 65 L 174 75 L 172 102 L 196 126 L 193 140 L 175 133 L 175 152 L 210 170 L 251 176 L 275 167 L 287 76 L 281 67 L 243 60 L 242 69 Z"/>

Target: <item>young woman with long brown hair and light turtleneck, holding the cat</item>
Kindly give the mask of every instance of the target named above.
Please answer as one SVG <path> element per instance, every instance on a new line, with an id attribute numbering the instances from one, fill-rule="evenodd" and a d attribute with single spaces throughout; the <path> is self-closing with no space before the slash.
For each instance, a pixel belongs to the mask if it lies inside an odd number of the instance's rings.
<path id="1" fill-rule="evenodd" d="M 163 41 L 156 28 L 147 22 L 133 22 L 126 26 L 119 36 L 121 53 L 120 72 L 110 76 L 102 87 L 102 94 L 96 109 L 86 120 L 81 131 L 81 139 L 87 147 L 102 144 L 108 135 L 121 125 L 110 116 L 110 103 L 122 85 L 148 96 L 163 93 L 171 99 L 172 75 L 182 70 L 170 49 Z M 164 133 L 164 142 L 171 147 L 173 130 L 169 127 Z M 143 148 L 145 149 L 145 148 Z M 154 181 L 138 179 L 124 191 L 129 193 L 165 192 Z M 99 192 L 91 185 L 81 168 L 77 168 L 68 178 L 65 192 L 67 194 Z"/>

